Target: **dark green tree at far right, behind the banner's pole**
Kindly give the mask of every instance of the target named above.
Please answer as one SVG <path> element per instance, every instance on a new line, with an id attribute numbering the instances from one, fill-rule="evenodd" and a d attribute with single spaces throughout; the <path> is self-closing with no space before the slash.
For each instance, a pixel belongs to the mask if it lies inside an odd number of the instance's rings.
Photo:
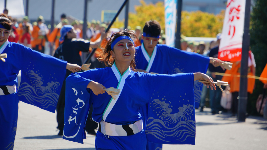
<path id="1" fill-rule="evenodd" d="M 250 46 L 256 61 L 256 76 L 260 76 L 267 63 L 267 5 L 265 0 L 255 0 L 250 22 Z M 257 114 L 256 100 L 263 91 L 263 83 L 255 82 L 255 89 L 248 101 L 248 112 Z"/>

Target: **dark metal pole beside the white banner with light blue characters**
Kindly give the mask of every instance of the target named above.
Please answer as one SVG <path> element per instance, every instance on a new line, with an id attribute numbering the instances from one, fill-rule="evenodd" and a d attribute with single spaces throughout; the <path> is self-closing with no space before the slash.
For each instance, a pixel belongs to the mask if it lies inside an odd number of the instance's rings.
<path id="1" fill-rule="evenodd" d="M 182 0 L 177 0 L 177 27 L 175 34 L 175 48 L 181 49 L 181 14 L 182 14 Z"/>

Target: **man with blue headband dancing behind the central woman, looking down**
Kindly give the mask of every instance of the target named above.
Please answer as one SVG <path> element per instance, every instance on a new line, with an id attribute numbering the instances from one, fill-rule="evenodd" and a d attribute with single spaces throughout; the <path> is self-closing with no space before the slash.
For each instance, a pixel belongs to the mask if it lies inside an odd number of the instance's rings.
<path id="1" fill-rule="evenodd" d="M 143 28 L 143 44 L 135 48 L 136 70 L 158 74 L 175 74 L 189 72 L 207 72 L 209 64 L 215 67 L 223 62 L 218 58 L 205 57 L 197 53 L 185 52 L 167 45 L 158 44 L 161 27 L 155 20 L 147 21 Z M 194 82 L 195 108 L 199 107 L 202 84 Z M 146 110 L 146 108 L 143 108 Z M 143 111 L 144 115 L 146 114 Z M 144 119 L 146 122 L 146 119 Z M 144 123 L 146 124 L 146 123 Z M 146 125 L 144 125 L 146 127 Z M 147 149 L 162 148 L 162 144 L 147 142 Z"/>

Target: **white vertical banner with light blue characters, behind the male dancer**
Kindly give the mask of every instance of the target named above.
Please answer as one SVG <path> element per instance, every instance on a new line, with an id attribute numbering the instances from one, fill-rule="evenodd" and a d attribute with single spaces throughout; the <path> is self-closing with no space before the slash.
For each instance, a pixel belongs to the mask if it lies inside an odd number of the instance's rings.
<path id="1" fill-rule="evenodd" d="M 176 0 L 164 0 L 166 45 L 175 46 Z"/>

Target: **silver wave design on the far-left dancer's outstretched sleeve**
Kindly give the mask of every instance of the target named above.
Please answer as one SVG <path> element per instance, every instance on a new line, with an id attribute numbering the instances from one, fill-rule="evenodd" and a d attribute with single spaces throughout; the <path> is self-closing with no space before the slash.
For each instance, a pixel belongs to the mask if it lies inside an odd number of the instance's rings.
<path id="1" fill-rule="evenodd" d="M 20 85 L 18 95 L 25 96 L 29 104 L 32 105 L 35 105 L 34 102 L 38 102 L 42 108 L 48 108 L 51 105 L 56 107 L 59 97 L 59 95 L 56 94 L 56 89 L 60 86 L 60 83 L 52 81 L 48 82 L 47 86 L 42 86 L 44 84 L 41 81 L 42 78 L 34 73 L 33 70 L 29 70 L 28 72 L 31 84 L 23 82 Z"/>

